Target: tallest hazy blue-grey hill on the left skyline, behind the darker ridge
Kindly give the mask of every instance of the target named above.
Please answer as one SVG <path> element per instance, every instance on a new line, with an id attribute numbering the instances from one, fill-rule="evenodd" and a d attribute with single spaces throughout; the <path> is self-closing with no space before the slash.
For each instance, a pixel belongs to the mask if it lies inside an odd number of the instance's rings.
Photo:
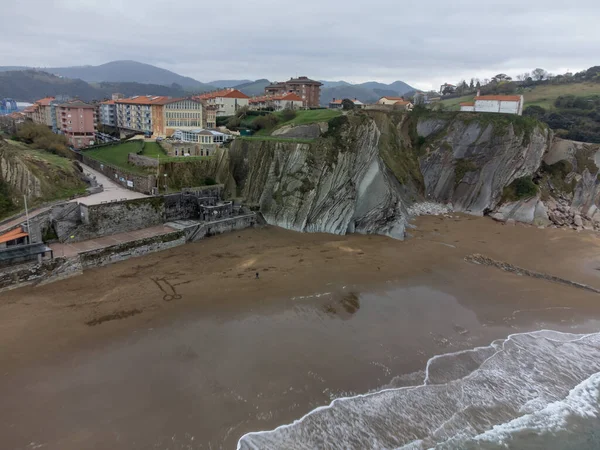
<path id="1" fill-rule="evenodd" d="M 19 68 L 23 69 L 23 68 Z M 79 67 L 50 67 L 38 69 L 54 75 L 71 79 L 81 79 L 87 83 L 108 82 L 135 82 L 144 84 L 157 84 L 182 86 L 190 91 L 209 91 L 213 86 L 201 83 L 190 77 L 184 77 L 170 70 L 144 64 L 137 61 L 111 61 L 99 66 Z M 0 72 L 3 68 L 0 67 Z"/>

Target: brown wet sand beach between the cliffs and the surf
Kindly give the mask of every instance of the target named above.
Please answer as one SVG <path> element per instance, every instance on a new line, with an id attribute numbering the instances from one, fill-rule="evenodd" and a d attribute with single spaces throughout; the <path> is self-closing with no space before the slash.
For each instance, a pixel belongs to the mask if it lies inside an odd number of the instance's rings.
<path id="1" fill-rule="evenodd" d="M 593 233 L 424 217 L 411 239 L 268 227 L 0 294 L 4 448 L 235 448 L 434 355 L 598 330 Z M 255 279 L 255 273 L 259 279 Z M 420 381 L 419 381 L 420 380 Z"/>

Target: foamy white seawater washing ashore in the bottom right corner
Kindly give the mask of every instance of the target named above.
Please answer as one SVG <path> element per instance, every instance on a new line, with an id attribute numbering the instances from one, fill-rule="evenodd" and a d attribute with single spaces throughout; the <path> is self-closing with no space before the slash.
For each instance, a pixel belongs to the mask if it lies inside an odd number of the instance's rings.
<path id="1" fill-rule="evenodd" d="M 336 399 L 237 448 L 599 449 L 600 333 L 521 333 L 436 356 L 420 385 Z"/>

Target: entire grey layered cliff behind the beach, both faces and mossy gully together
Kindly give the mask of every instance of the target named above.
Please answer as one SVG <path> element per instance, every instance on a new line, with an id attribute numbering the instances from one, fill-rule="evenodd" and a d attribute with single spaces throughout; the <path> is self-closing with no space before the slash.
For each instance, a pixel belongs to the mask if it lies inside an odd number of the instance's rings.
<path id="1" fill-rule="evenodd" d="M 493 210 L 506 186 L 535 175 L 552 139 L 533 119 L 490 114 L 363 111 L 317 128 L 327 131 L 308 143 L 236 140 L 217 179 L 269 224 L 402 238 L 415 203 Z"/>

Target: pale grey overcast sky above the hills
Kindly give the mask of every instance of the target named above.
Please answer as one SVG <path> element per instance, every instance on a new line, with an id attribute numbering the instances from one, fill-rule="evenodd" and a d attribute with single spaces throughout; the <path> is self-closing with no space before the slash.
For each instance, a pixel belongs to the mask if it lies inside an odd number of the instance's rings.
<path id="1" fill-rule="evenodd" d="M 133 59 L 204 82 L 307 75 L 428 89 L 499 72 L 600 64 L 599 0 L 9 3 L 0 65 Z"/>

